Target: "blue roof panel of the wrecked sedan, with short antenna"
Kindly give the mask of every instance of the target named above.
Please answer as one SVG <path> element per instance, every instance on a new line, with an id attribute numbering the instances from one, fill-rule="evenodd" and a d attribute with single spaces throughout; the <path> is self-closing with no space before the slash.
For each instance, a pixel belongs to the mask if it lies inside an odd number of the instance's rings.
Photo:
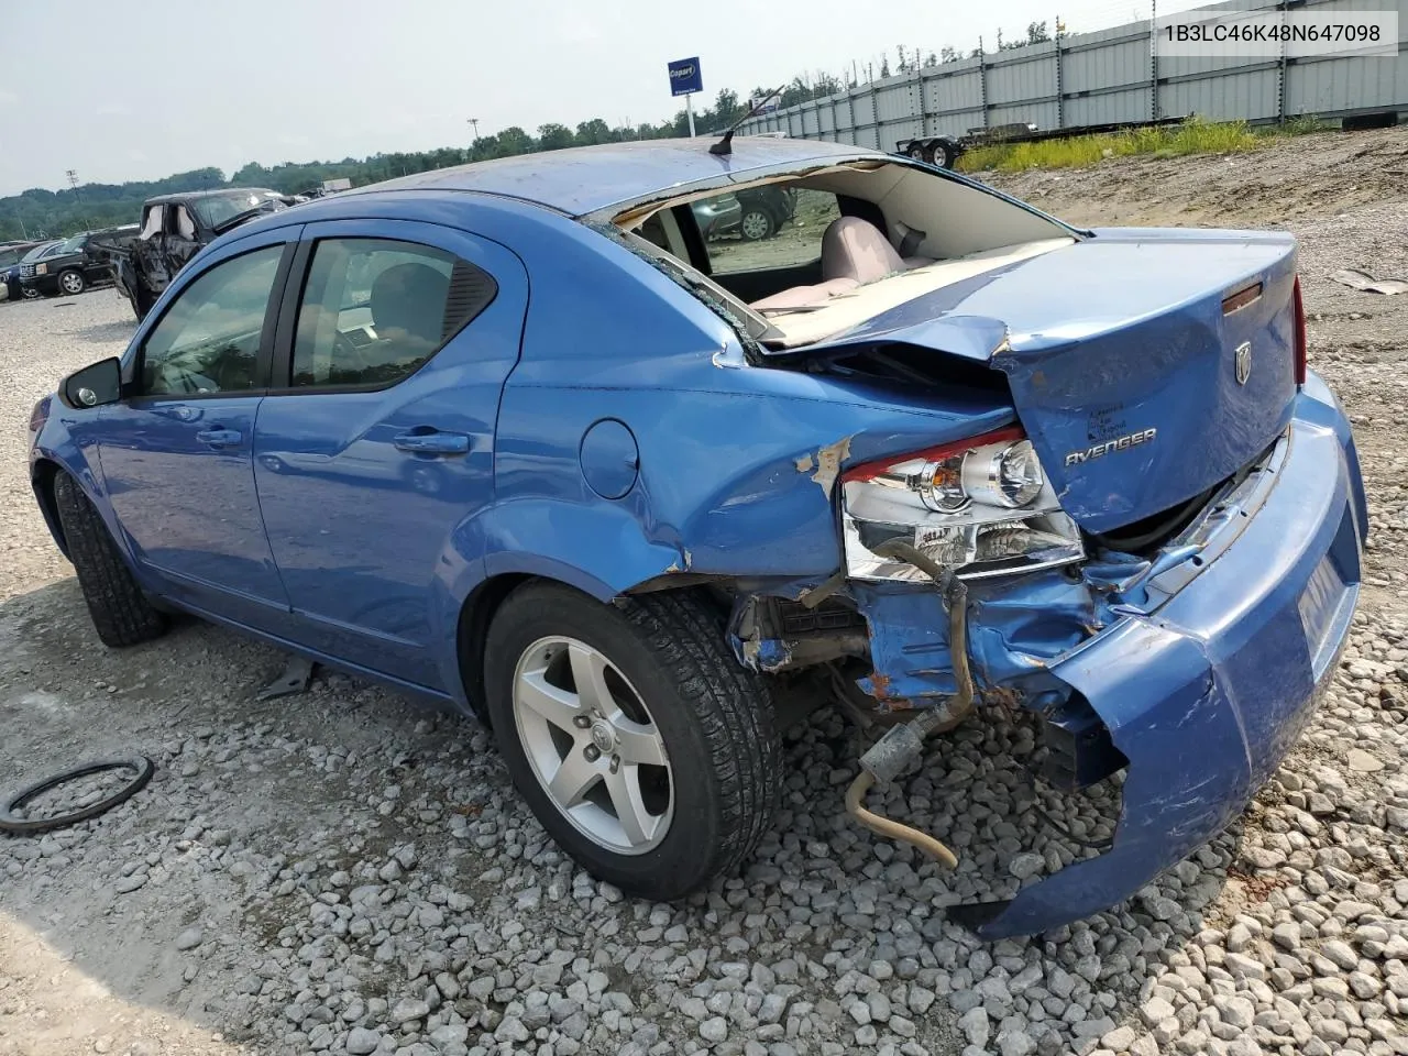
<path id="1" fill-rule="evenodd" d="M 708 152 L 712 137 L 632 139 L 597 146 L 521 153 L 403 176 L 337 197 L 391 190 L 469 190 L 532 201 L 572 217 L 638 201 L 698 180 L 772 168 L 807 168 L 849 158 L 888 158 L 879 151 L 817 139 L 738 137 L 734 152 Z M 303 207 L 300 207 L 303 208 Z"/>

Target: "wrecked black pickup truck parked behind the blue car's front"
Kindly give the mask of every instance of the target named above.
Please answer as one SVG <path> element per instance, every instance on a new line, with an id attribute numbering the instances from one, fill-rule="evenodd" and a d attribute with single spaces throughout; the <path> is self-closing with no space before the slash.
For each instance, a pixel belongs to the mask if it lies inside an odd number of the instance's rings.
<path id="1" fill-rule="evenodd" d="M 142 206 L 142 222 L 131 246 L 115 258 L 117 290 L 137 318 L 200 249 L 234 227 L 265 213 L 287 208 L 296 199 L 266 187 L 162 194 Z"/>

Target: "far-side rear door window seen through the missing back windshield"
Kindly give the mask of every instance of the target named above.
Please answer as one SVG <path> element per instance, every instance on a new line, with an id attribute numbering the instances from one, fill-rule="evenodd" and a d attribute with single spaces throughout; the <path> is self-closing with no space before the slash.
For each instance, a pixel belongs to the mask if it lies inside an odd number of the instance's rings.
<path id="1" fill-rule="evenodd" d="M 821 237 L 841 217 L 836 196 L 805 187 L 753 187 L 693 203 L 715 275 L 821 260 Z"/>

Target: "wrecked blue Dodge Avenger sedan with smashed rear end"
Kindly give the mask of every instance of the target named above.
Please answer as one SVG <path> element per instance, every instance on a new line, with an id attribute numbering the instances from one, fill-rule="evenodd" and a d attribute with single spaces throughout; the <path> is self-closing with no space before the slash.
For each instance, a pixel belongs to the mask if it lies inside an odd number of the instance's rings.
<path id="1" fill-rule="evenodd" d="M 772 187 L 772 239 L 700 203 Z M 745 862 L 797 700 L 887 725 L 866 807 L 1001 708 L 1124 774 L 1104 853 L 955 907 L 1110 907 L 1276 770 L 1367 529 L 1291 237 L 1079 230 L 773 138 L 442 169 L 203 249 L 30 421 L 103 642 L 173 610 L 489 722 L 577 862 L 670 900 Z"/>

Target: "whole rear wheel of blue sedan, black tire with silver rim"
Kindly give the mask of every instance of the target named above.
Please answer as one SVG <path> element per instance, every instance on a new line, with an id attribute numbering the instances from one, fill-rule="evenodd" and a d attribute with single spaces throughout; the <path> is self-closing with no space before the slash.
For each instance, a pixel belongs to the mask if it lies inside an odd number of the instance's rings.
<path id="1" fill-rule="evenodd" d="M 593 876 L 673 901 L 735 872 L 772 824 L 781 750 L 767 686 L 738 665 L 722 621 L 696 596 L 617 608 L 558 584 L 520 587 L 494 615 L 484 656 L 489 715 L 514 784 Z M 605 718 L 610 704 L 594 708 L 593 693 L 574 691 L 573 670 L 598 673 L 617 721 Z M 558 725 L 528 700 L 548 701 Z M 539 727 L 556 732 L 545 741 Z M 641 762 L 650 752 L 665 765 Z M 608 756 L 625 760 L 620 777 Z M 551 790 L 563 777 L 577 796 Z M 639 804 L 634 834 L 615 808 L 622 783 Z"/>

